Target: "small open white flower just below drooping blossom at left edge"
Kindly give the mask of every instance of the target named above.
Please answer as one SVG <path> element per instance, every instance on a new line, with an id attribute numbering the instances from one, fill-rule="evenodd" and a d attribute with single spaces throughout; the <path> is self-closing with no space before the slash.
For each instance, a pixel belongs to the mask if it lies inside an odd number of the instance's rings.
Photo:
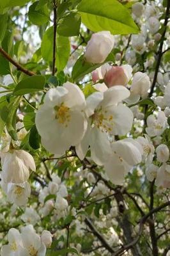
<path id="1" fill-rule="evenodd" d="M 7 198 L 10 202 L 22 206 L 27 204 L 31 195 L 31 188 L 28 182 L 21 184 L 8 183 Z"/>

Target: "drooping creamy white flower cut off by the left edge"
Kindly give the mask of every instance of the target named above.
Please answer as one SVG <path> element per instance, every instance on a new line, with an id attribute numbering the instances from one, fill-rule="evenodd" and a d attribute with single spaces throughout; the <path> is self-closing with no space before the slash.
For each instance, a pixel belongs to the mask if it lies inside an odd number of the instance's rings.
<path id="1" fill-rule="evenodd" d="M 29 178 L 30 171 L 36 170 L 33 157 L 24 150 L 1 153 L 1 165 L 4 182 L 23 183 Z"/>

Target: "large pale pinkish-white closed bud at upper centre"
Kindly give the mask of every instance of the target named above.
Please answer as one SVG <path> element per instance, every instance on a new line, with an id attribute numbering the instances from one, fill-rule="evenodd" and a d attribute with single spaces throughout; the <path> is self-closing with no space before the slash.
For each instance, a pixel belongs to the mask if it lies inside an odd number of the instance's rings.
<path id="1" fill-rule="evenodd" d="M 84 58 L 89 63 L 105 61 L 114 46 L 114 36 L 109 31 L 94 33 L 86 46 Z"/>

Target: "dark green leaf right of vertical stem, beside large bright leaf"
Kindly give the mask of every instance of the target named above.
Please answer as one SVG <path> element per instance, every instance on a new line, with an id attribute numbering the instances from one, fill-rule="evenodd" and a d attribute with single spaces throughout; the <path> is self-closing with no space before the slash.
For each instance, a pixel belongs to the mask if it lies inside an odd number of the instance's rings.
<path id="1" fill-rule="evenodd" d="M 78 36 L 81 27 L 81 17 L 77 13 L 69 13 L 59 20 L 58 34 L 61 36 Z"/>

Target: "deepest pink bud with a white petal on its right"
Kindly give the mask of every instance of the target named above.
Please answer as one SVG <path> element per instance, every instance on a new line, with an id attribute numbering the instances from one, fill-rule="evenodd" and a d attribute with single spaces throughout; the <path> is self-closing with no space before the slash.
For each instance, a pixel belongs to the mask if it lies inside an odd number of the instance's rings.
<path id="1" fill-rule="evenodd" d="M 107 87 L 114 85 L 126 86 L 130 77 L 132 76 L 132 68 L 129 65 L 123 65 L 122 67 L 112 67 L 104 77 L 104 82 Z"/>

